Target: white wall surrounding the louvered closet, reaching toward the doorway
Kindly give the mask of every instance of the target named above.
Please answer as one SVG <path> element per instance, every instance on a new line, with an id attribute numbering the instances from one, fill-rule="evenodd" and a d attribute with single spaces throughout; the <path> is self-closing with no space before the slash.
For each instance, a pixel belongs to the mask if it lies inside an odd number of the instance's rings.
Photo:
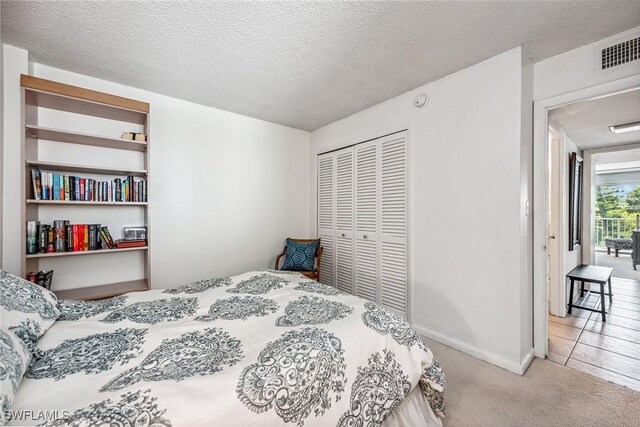
<path id="1" fill-rule="evenodd" d="M 429 103 L 418 109 L 413 98 L 422 92 Z M 409 128 L 412 323 L 515 372 L 532 348 L 523 203 L 531 128 L 522 129 L 531 93 L 518 48 L 311 134 L 315 228 L 316 155 Z"/>

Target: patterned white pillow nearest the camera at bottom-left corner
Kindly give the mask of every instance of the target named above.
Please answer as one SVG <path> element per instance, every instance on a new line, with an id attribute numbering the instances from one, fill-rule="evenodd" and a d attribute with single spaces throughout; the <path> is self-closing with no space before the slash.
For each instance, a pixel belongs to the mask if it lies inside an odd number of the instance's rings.
<path id="1" fill-rule="evenodd" d="M 9 419 L 20 381 L 31 361 L 31 352 L 13 332 L 0 329 L 0 425 Z"/>

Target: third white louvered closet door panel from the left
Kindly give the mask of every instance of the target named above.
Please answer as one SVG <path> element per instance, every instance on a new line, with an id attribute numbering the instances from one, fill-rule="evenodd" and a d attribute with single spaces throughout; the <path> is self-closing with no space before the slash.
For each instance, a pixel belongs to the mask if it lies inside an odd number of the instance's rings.
<path id="1" fill-rule="evenodd" d="M 355 146 L 356 295 L 378 302 L 378 147 L 377 141 Z"/>

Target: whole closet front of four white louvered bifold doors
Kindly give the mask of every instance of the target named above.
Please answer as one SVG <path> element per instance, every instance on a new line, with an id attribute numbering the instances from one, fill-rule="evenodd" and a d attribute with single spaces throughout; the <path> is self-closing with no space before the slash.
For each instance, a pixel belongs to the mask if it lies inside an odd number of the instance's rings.
<path id="1" fill-rule="evenodd" d="M 320 281 L 405 318 L 407 131 L 318 156 Z"/>

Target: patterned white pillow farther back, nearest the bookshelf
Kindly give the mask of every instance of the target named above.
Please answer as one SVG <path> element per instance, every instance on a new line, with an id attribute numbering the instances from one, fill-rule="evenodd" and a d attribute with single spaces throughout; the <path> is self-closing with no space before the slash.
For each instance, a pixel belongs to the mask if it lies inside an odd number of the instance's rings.
<path id="1" fill-rule="evenodd" d="M 58 298 L 53 292 L 2 270 L 0 306 L 2 328 L 13 332 L 32 351 L 38 338 L 60 316 Z"/>

